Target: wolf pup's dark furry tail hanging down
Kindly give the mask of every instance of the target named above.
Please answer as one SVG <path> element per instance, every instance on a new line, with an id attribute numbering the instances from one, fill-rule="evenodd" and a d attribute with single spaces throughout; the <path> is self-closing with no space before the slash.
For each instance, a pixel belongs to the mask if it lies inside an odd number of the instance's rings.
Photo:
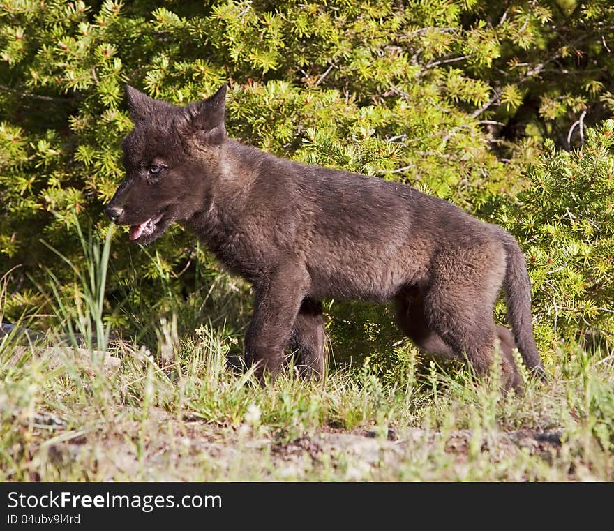
<path id="1" fill-rule="evenodd" d="M 537 352 L 531 323 L 531 281 L 525 257 L 511 234 L 500 233 L 507 254 L 504 289 L 507 298 L 507 321 L 514 331 L 514 341 L 525 365 L 533 373 L 544 377 L 546 371 Z"/>

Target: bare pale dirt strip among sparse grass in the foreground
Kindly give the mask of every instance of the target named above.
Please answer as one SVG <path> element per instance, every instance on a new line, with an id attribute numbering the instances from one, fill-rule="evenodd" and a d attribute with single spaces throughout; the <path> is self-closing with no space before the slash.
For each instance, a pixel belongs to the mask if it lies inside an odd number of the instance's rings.
<path id="1" fill-rule="evenodd" d="M 52 428 L 57 419 L 43 415 L 37 421 L 41 428 Z M 429 454 L 441 455 L 442 449 L 449 460 L 441 465 L 451 466 L 462 477 L 469 472 L 464 468 L 470 466 L 472 451 L 493 463 L 514 462 L 521 456 L 551 463 L 561 444 L 557 431 L 477 436 L 458 430 L 443 436 L 419 428 L 389 430 L 385 438 L 367 430 L 324 428 L 278 442 L 247 425 L 238 429 L 211 426 L 201 419 L 178 420 L 155 409 L 145 421 L 120 419 L 98 431 L 45 442 L 34 461 L 68 472 L 75 468 L 90 481 L 387 481 L 396 479 L 408 462 L 424 463 Z M 37 479 L 36 474 L 32 479 Z"/>

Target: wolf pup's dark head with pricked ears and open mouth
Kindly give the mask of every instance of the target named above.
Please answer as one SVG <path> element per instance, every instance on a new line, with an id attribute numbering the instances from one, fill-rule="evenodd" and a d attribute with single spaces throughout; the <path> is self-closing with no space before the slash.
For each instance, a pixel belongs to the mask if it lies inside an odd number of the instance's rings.
<path id="1" fill-rule="evenodd" d="M 122 142 L 123 180 L 106 213 L 130 225 L 130 239 L 149 244 L 174 221 L 202 210 L 226 138 L 226 85 L 185 107 L 154 100 L 127 86 L 133 130 Z"/>

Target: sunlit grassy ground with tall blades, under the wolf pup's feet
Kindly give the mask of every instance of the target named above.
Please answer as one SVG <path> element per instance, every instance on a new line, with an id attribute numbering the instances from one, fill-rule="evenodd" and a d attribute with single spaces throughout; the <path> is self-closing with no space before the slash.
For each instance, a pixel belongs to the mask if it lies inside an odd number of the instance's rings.
<path id="1" fill-rule="evenodd" d="M 478 381 L 464 366 L 420 360 L 408 343 L 387 370 L 366 358 L 303 382 L 290 361 L 263 389 L 227 366 L 240 330 L 223 320 L 195 327 L 194 315 L 173 313 L 150 325 L 149 350 L 113 346 L 109 247 L 84 238 L 90 266 L 75 269 L 73 304 L 50 276 L 50 338 L 63 334 L 66 346 L 49 354 L 0 341 L 0 481 L 614 479 L 607 346 L 560 345 L 550 379 L 527 378 L 523 396 L 503 396 L 494 369 Z M 85 350 L 70 347 L 77 334 Z M 104 349 L 119 366 L 103 364 Z"/>

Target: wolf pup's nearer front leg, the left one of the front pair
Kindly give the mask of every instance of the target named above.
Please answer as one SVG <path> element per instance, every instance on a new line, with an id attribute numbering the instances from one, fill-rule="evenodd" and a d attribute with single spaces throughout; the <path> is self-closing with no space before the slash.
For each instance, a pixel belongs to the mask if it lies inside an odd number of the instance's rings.
<path id="1" fill-rule="evenodd" d="M 308 272 L 294 261 L 267 272 L 254 283 L 254 312 L 245 336 L 245 361 L 247 366 L 257 364 L 255 374 L 261 384 L 266 373 L 275 377 L 279 371 L 309 284 Z"/>

